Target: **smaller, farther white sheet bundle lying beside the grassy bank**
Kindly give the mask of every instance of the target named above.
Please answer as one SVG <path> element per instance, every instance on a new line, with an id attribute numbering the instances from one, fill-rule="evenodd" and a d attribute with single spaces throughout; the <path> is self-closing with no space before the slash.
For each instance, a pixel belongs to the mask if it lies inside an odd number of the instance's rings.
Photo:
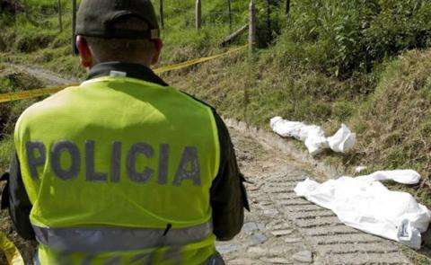
<path id="1" fill-rule="evenodd" d="M 281 137 L 294 137 L 303 141 L 311 155 L 318 155 L 326 148 L 346 153 L 356 143 L 356 135 L 344 124 L 333 137 L 328 138 L 325 137 L 325 132 L 319 126 L 306 125 L 303 122 L 290 121 L 281 117 L 271 119 L 270 126 Z"/>

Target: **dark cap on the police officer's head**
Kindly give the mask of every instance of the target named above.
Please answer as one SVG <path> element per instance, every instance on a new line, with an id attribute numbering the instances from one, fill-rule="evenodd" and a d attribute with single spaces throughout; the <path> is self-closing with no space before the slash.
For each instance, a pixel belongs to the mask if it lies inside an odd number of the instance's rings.
<path id="1" fill-rule="evenodd" d="M 116 25 L 138 20 L 135 29 Z M 154 40 L 160 38 L 159 25 L 150 0 L 83 0 L 76 17 L 76 35 L 104 39 Z"/>

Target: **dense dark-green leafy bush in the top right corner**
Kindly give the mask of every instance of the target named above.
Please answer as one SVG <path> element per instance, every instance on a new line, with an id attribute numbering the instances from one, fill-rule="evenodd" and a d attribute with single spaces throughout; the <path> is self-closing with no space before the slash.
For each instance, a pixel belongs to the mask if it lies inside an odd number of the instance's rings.
<path id="1" fill-rule="evenodd" d="M 301 0 L 280 45 L 301 46 L 295 60 L 347 78 L 406 49 L 431 45 L 427 0 Z"/>

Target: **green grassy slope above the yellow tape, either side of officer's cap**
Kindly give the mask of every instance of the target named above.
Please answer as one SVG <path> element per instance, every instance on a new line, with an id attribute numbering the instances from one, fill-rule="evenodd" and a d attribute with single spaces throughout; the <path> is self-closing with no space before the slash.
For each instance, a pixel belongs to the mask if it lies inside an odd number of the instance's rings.
<path id="1" fill-rule="evenodd" d="M 77 57 L 71 55 L 70 1 L 62 3 L 65 30 L 61 32 L 58 28 L 57 4 L 53 1 L 27 1 L 25 6 L 28 8 L 25 13 L 18 13 L 13 17 L 0 15 L 0 22 L 5 25 L 5 31 L 0 33 L 0 44 L 4 43 L 0 45 L 0 52 L 4 52 L 2 59 L 22 64 L 37 64 L 64 75 L 84 76 Z M 224 1 L 208 1 L 204 4 L 203 27 L 201 31 L 196 31 L 194 3 L 195 1 L 190 0 L 165 1 L 161 64 L 182 62 L 216 53 L 219 51 L 219 41 L 231 32 Z M 155 6 L 157 8 L 156 4 Z M 245 1 L 233 1 L 232 10 L 235 29 L 247 21 L 248 4 Z"/>

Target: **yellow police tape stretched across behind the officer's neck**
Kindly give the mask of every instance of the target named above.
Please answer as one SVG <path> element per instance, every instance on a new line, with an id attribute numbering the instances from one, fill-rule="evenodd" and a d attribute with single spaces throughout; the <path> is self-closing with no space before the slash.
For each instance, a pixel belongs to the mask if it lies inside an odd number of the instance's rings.
<path id="1" fill-rule="evenodd" d="M 236 48 L 236 49 L 230 49 L 224 53 L 221 54 L 217 54 L 215 56 L 210 56 L 210 57 L 202 57 L 202 58 L 198 58 L 198 59 L 193 59 L 193 60 L 189 60 L 187 62 L 183 62 L 180 64 L 176 64 L 176 65 L 172 65 L 172 66 L 163 66 L 157 69 L 154 69 L 154 73 L 155 74 L 162 74 L 165 72 L 169 72 L 172 70 L 179 70 L 188 66 L 194 66 L 194 65 L 198 65 L 210 60 L 214 60 L 218 57 L 224 57 L 228 54 L 232 54 L 234 52 L 240 51 L 242 49 L 245 49 L 247 47 L 247 45 L 244 45 L 240 48 Z M 24 100 L 24 99 L 31 99 L 31 98 L 36 98 L 36 97 L 40 97 L 43 95 L 48 95 L 48 94 L 52 94 L 52 93 L 57 93 L 61 90 L 63 90 L 64 88 L 68 87 L 68 86 L 76 86 L 79 84 L 64 84 L 64 85 L 58 85 L 58 86 L 51 86 L 48 88 L 41 88 L 41 89 L 33 89 L 33 90 L 27 90 L 27 91 L 21 91 L 21 92 L 14 92 L 14 93 L 4 93 L 4 94 L 0 94 L 0 103 L 3 102 L 13 102 L 13 101 L 19 101 L 19 100 Z"/>

